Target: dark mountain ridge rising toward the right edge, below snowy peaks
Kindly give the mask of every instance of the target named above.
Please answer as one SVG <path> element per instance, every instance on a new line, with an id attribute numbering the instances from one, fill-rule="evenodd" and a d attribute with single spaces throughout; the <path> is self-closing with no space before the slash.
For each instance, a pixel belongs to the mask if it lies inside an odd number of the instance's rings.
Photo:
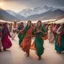
<path id="1" fill-rule="evenodd" d="M 64 11 L 61 9 L 56 9 L 56 10 L 52 10 L 52 11 L 47 11 L 45 13 L 41 13 L 41 14 L 35 14 L 35 15 L 31 15 L 28 16 L 26 18 L 26 20 L 48 20 L 48 19 L 60 19 L 60 18 L 64 18 Z"/>

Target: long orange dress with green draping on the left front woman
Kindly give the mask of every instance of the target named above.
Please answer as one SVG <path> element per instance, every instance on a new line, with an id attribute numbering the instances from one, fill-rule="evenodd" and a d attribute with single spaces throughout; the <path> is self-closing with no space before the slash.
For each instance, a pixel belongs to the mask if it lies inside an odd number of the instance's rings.
<path id="1" fill-rule="evenodd" d="M 27 54 L 29 54 L 29 50 L 31 46 L 32 31 L 33 31 L 32 26 L 31 27 L 26 26 L 26 28 L 24 29 L 24 38 L 20 45 L 22 50 Z"/>

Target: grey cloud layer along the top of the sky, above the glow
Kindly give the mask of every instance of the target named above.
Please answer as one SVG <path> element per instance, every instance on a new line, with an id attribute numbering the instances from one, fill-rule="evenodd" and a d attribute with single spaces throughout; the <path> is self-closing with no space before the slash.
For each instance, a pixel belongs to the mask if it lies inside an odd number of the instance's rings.
<path id="1" fill-rule="evenodd" d="M 0 0 L 0 1 L 17 2 L 19 4 L 24 4 L 29 7 L 43 6 L 43 5 L 64 7 L 64 0 Z"/>

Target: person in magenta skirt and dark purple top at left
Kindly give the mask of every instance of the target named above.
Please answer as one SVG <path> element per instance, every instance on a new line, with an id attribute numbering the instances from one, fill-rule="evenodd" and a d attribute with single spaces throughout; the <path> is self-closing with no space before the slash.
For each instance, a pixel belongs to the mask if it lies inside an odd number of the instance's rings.
<path id="1" fill-rule="evenodd" d="M 3 46 L 4 51 L 6 51 L 6 49 L 8 49 L 12 46 L 12 43 L 11 43 L 9 37 L 11 37 L 11 35 L 9 33 L 7 23 L 4 23 L 3 29 L 2 29 L 2 46 Z"/>

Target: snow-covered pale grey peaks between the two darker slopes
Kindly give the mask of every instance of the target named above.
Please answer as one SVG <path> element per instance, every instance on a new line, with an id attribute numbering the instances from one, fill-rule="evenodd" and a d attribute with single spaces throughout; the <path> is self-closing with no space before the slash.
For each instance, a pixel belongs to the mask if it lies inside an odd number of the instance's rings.
<path id="1" fill-rule="evenodd" d="M 53 10 L 55 10 L 55 8 L 48 7 L 48 6 L 45 5 L 44 7 L 35 7 L 33 9 L 29 9 L 29 8 L 24 9 L 24 10 L 20 11 L 18 14 L 20 14 L 20 15 L 22 15 L 24 17 L 28 17 L 30 15 L 45 13 L 45 12 L 47 12 L 49 10 L 53 11 Z"/>

